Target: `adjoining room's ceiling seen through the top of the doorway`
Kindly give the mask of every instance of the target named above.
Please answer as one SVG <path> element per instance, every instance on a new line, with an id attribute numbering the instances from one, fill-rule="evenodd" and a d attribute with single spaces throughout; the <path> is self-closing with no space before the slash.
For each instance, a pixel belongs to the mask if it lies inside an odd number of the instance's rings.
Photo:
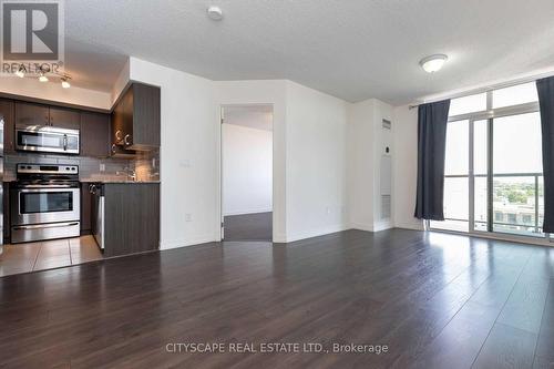
<path id="1" fill-rule="evenodd" d="M 274 110 L 271 105 L 228 105 L 224 106 L 224 122 L 256 130 L 273 131 Z"/>

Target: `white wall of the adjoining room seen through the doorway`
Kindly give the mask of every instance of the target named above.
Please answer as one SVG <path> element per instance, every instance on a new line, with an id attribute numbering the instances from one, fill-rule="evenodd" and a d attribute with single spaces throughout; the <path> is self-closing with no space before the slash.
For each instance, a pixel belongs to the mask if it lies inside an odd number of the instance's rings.
<path id="1" fill-rule="evenodd" d="M 273 133 L 222 124 L 224 215 L 271 212 Z"/>

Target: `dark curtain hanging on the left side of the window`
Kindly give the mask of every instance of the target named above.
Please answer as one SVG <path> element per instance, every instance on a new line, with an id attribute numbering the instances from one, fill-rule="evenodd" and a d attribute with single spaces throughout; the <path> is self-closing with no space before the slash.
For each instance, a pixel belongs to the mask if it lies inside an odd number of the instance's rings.
<path id="1" fill-rule="evenodd" d="M 444 150 L 450 100 L 419 105 L 418 192 L 414 216 L 444 221 Z"/>

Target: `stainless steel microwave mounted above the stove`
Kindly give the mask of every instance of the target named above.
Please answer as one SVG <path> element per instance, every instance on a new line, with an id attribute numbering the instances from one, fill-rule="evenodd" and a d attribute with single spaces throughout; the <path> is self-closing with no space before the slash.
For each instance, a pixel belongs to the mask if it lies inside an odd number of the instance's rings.
<path id="1" fill-rule="evenodd" d="M 79 130 L 43 125 L 16 126 L 16 148 L 21 151 L 79 154 Z"/>

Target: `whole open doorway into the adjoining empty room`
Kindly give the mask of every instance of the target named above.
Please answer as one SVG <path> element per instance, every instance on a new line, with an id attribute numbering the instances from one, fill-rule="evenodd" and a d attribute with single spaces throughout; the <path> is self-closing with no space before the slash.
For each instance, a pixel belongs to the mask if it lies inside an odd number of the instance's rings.
<path id="1" fill-rule="evenodd" d="M 273 239 L 273 105 L 222 106 L 222 239 Z"/>

